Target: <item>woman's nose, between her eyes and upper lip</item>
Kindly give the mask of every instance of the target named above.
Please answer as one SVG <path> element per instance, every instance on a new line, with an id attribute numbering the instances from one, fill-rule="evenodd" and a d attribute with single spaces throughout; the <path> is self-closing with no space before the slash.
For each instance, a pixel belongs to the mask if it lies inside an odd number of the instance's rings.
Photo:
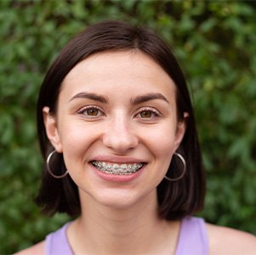
<path id="1" fill-rule="evenodd" d="M 116 153 L 123 154 L 134 149 L 139 143 L 134 127 L 124 116 L 109 120 L 104 128 L 103 144 Z"/>

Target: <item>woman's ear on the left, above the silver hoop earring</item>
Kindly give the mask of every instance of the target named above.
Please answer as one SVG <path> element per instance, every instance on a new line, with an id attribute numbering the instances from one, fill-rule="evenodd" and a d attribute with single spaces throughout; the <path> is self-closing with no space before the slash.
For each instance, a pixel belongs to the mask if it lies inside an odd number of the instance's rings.
<path id="1" fill-rule="evenodd" d="M 58 132 L 56 116 L 50 113 L 49 107 L 43 107 L 43 122 L 46 130 L 47 137 L 55 150 L 59 153 L 62 152 L 62 144 L 60 141 L 60 135 Z"/>

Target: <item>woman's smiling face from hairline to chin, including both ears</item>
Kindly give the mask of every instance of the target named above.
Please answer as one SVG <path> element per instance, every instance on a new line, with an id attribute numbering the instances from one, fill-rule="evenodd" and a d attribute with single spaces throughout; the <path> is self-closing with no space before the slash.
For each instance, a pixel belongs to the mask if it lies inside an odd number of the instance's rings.
<path id="1" fill-rule="evenodd" d="M 175 86 L 140 52 L 94 54 L 65 77 L 55 116 L 43 109 L 48 139 L 63 152 L 81 202 L 131 207 L 156 202 L 185 133 Z"/>

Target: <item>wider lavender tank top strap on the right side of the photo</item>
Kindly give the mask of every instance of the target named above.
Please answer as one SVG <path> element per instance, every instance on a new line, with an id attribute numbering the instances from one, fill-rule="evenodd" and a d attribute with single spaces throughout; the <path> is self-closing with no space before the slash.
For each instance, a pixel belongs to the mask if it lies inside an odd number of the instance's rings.
<path id="1" fill-rule="evenodd" d="M 208 255 L 208 233 L 203 218 L 187 217 L 181 222 L 175 255 Z"/>

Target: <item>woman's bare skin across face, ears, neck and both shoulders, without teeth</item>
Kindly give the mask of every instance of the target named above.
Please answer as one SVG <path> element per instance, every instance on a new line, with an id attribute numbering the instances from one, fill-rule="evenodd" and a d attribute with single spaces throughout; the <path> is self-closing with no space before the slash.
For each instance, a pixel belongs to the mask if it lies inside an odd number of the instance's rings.
<path id="1" fill-rule="evenodd" d="M 94 54 L 65 77 L 57 114 L 43 114 L 79 190 L 82 215 L 67 229 L 75 254 L 174 254 L 180 223 L 158 218 L 156 186 L 185 133 L 176 111 L 174 82 L 139 51 Z M 105 178 L 94 160 L 145 164 L 133 178 Z M 256 251 L 252 235 L 207 226 L 211 254 Z"/>

